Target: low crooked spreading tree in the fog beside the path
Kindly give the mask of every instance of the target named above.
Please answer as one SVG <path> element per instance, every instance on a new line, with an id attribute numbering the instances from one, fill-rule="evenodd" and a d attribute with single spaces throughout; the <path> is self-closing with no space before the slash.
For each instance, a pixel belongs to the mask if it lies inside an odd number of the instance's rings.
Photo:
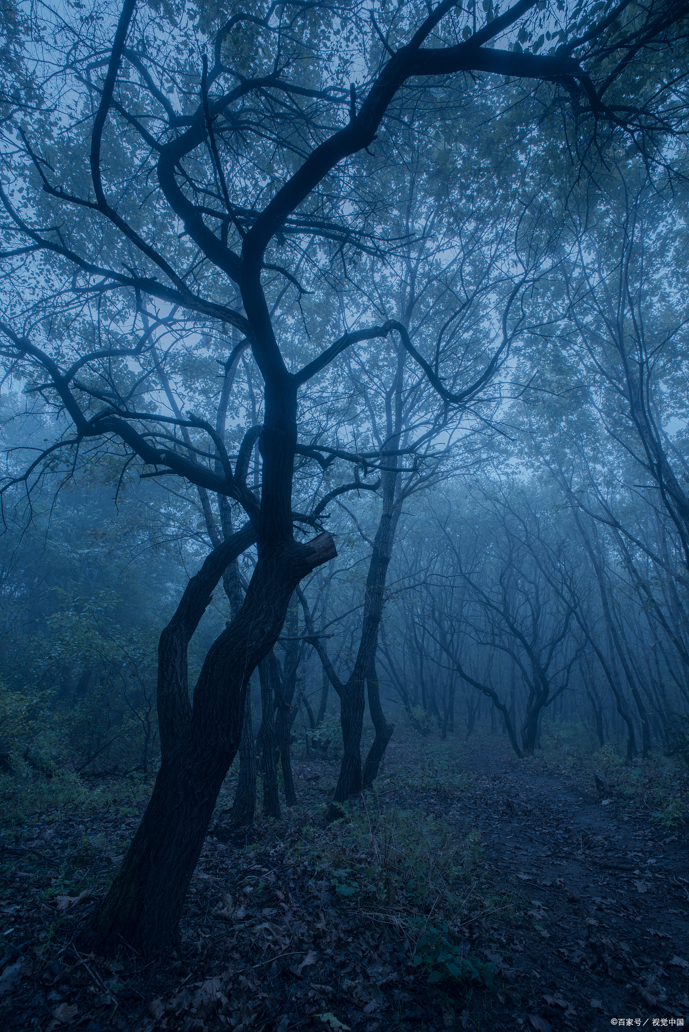
<path id="1" fill-rule="evenodd" d="M 581 653 L 571 626 L 576 601 L 566 599 L 554 585 L 561 562 L 550 562 L 554 549 L 545 526 L 545 511 L 532 508 L 518 490 L 486 484 L 472 494 L 467 507 L 478 524 L 446 517 L 442 545 L 429 576 L 433 637 L 460 677 L 493 701 L 500 710 L 518 755 L 532 755 L 538 741 L 541 714 L 568 686 Z M 551 539 L 546 543 L 544 538 Z M 468 644 L 470 643 L 470 644 Z M 522 675 L 526 689 L 522 748 L 506 702 L 488 681 L 472 676 L 465 658 L 468 648 L 483 654 L 502 652 Z M 489 668 L 490 669 L 490 668 Z"/>

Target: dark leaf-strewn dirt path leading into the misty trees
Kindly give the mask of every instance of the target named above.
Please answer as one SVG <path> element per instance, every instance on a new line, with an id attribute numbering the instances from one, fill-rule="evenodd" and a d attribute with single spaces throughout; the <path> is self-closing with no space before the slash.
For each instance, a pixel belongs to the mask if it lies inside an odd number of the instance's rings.
<path id="1" fill-rule="evenodd" d="M 686 832 L 601 805 L 539 761 L 475 749 L 469 766 L 467 817 L 482 829 L 490 876 L 506 892 L 519 884 L 526 911 L 514 937 L 487 952 L 506 981 L 494 1027 L 689 1026 Z"/>

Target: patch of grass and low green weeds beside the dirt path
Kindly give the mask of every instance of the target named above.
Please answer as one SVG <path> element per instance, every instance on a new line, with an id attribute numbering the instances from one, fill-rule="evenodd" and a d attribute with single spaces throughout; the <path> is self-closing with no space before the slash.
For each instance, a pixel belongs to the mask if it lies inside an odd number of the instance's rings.
<path id="1" fill-rule="evenodd" d="M 486 926 L 496 911 L 504 921 L 511 904 L 478 890 L 480 832 L 458 836 L 445 820 L 375 797 L 345 811 L 330 827 L 303 829 L 294 863 L 312 865 L 343 910 L 397 929 L 430 990 L 492 987 L 493 968 L 470 953 L 467 926 Z"/>

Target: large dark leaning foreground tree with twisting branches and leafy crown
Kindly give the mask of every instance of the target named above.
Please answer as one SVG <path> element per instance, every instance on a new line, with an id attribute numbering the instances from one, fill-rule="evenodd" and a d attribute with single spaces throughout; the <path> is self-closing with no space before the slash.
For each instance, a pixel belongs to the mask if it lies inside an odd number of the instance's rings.
<path id="1" fill-rule="evenodd" d="M 486 75 L 539 85 L 574 130 L 563 140 L 577 139 L 587 159 L 610 132 L 664 158 L 663 134 L 679 132 L 686 109 L 688 5 L 518 0 L 499 11 L 489 0 L 482 25 L 457 0 L 230 3 L 214 8 L 213 24 L 187 0 L 41 10 L 14 52 L 31 96 L 4 124 L 2 358 L 60 422 L 22 483 L 102 445 L 247 516 L 161 637 L 161 767 L 94 918 L 104 939 L 152 947 L 179 921 L 239 746 L 249 677 L 300 580 L 336 554 L 326 533 L 304 541 L 294 530 L 314 522 L 292 512 L 294 457 L 314 454 L 297 440 L 300 396 L 316 399 L 318 378 L 345 351 L 390 334 L 448 406 L 473 386 L 455 383 L 451 354 L 441 366 L 399 324 L 361 323 L 326 344 L 338 332 L 326 301 L 334 265 L 346 276 L 361 249 L 384 260 L 394 246 L 376 231 L 376 155 L 394 160 L 400 122 L 424 134 Z M 262 379 L 262 423 L 237 447 L 205 417 L 201 383 L 179 414 L 161 405 L 161 358 L 184 336 L 212 361 L 209 327 L 230 337 L 225 376 L 233 329 Z M 255 445 L 257 490 L 247 484 Z M 12 479 L 5 493 L 15 488 Z M 251 581 L 192 705 L 187 644 L 223 571 L 253 542 Z"/>

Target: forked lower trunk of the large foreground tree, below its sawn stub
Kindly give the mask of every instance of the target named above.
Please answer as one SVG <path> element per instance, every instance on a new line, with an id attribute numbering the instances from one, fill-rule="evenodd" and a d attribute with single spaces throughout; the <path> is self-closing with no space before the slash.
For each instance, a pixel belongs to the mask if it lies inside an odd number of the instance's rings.
<path id="1" fill-rule="evenodd" d="M 244 535 L 241 551 L 252 536 L 249 531 L 245 543 Z M 106 942 L 122 937 L 150 949 L 171 939 L 218 793 L 239 748 L 249 678 L 273 648 L 295 585 L 337 554 L 330 535 L 308 545 L 283 542 L 262 549 L 238 616 L 206 656 L 192 710 L 187 645 L 224 567 L 240 554 L 231 554 L 228 544 L 216 549 L 192 578 L 161 636 L 162 763 L 144 818 L 94 914 L 93 927 Z M 217 552 L 224 559 L 220 565 Z"/>

